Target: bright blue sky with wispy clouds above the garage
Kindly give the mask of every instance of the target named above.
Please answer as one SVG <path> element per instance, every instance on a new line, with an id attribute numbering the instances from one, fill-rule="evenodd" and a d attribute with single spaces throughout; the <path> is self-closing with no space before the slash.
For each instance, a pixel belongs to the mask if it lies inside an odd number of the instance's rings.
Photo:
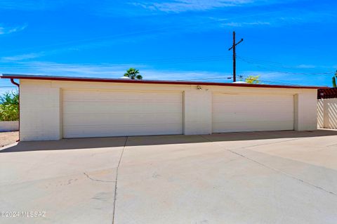
<path id="1" fill-rule="evenodd" d="M 331 86 L 336 1 L 0 1 L 0 73 Z M 0 79 L 0 86 L 13 86 Z M 0 93 L 11 90 L 1 87 Z"/>

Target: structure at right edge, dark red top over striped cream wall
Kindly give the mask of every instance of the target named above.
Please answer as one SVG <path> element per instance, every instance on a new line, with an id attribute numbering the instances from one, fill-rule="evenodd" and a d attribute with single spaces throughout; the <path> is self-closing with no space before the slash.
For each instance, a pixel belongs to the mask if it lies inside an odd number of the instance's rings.
<path id="1" fill-rule="evenodd" d="M 317 126 L 319 129 L 337 129 L 337 88 L 319 89 Z"/>

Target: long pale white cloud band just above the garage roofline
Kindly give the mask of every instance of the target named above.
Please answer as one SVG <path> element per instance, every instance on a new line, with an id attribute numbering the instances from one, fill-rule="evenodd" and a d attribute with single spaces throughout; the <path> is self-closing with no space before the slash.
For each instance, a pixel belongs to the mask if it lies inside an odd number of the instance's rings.
<path id="1" fill-rule="evenodd" d="M 70 77 L 100 77 L 117 79 L 123 76 L 129 67 L 136 67 L 144 79 L 150 80 L 190 80 L 190 81 L 213 81 L 213 82 L 231 82 L 230 72 L 211 72 L 211 71 L 182 71 L 182 70 L 154 70 L 147 65 L 142 64 L 67 64 L 56 62 L 20 62 L 11 69 L 2 69 L 2 73 L 18 74 L 37 74 L 37 75 L 55 75 Z M 309 85 L 312 79 L 303 78 L 299 74 L 289 74 L 287 72 L 266 72 L 266 71 L 243 71 L 237 72 L 237 79 L 240 75 L 244 80 L 249 75 L 259 75 L 262 84 L 275 85 Z M 319 77 L 324 79 L 325 76 Z M 315 79 L 317 79 L 315 77 Z"/>

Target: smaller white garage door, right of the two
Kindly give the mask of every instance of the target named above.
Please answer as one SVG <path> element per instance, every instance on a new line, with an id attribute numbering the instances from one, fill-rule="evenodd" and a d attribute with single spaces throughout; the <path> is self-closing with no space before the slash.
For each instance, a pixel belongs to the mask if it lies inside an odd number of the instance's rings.
<path id="1" fill-rule="evenodd" d="M 293 95 L 213 94 L 213 133 L 293 130 Z"/>

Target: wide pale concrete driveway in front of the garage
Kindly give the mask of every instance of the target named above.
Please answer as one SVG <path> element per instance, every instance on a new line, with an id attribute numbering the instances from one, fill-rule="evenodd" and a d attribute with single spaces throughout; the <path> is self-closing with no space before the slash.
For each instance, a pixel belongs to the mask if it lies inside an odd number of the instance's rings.
<path id="1" fill-rule="evenodd" d="M 0 169 L 0 223 L 337 223 L 337 131 L 26 142 Z"/>

